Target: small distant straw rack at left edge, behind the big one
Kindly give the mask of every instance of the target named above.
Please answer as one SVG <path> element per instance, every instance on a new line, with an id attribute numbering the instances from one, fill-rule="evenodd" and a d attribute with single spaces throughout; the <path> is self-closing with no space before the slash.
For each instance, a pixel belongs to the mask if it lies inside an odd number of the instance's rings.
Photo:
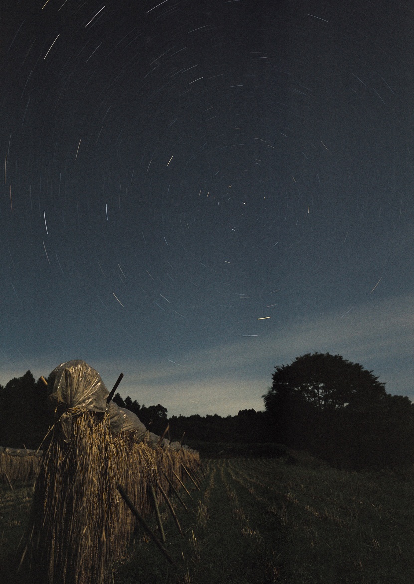
<path id="1" fill-rule="evenodd" d="M 37 450 L 0 446 L 0 482 L 11 485 L 36 478 L 42 454 Z"/>

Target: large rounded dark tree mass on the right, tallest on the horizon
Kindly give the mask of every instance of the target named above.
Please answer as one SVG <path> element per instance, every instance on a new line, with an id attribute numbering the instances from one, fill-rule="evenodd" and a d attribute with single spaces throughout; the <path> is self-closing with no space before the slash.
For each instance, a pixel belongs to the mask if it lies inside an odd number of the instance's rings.
<path id="1" fill-rule="evenodd" d="M 263 398 L 278 442 L 352 468 L 414 461 L 414 406 L 359 363 L 307 353 L 272 379 Z"/>

